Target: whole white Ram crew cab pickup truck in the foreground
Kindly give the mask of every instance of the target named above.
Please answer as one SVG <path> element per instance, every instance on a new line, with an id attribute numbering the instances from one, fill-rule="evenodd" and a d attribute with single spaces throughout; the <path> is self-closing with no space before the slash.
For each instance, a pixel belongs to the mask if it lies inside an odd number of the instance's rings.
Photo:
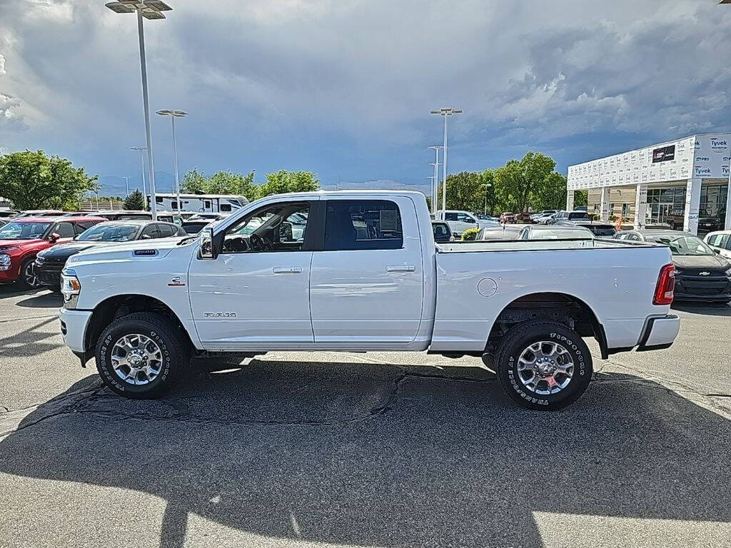
<path id="1" fill-rule="evenodd" d="M 417 192 L 282 194 L 197 237 L 72 256 L 61 332 L 126 397 L 201 354 L 426 350 L 482 357 L 513 400 L 556 409 L 591 378 L 582 338 L 603 358 L 673 343 L 673 274 L 667 247 L 618 240 L 436 246 Z"/>

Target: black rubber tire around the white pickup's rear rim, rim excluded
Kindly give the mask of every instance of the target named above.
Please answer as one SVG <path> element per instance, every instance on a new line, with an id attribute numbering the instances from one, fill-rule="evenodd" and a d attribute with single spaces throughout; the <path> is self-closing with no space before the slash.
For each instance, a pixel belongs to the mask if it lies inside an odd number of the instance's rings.
<path id="1" fill-rule="evenodd" d="M 524 351 L 529 351 L 529 346 L 540 341 L 563 346 L 574 364 L 568 384 L 554 394 L 542 395 L 531 391 L 521 381 L 523 377 L 518 371 L 520 356 Z M 512 327 L 496 352 L 495 363 L 498 379 L 507 395 L 523 407 L 541 411 L 553 411 L 574 403 L 588 387 L 593 373 L 591 354 L 586 343 L 576 332 L 556 321 L 529 321 Z M 567 380 L 565 376 L 559 378 Z M 539 386 L 542 390 L 548 388 L 545 382 Z"/>

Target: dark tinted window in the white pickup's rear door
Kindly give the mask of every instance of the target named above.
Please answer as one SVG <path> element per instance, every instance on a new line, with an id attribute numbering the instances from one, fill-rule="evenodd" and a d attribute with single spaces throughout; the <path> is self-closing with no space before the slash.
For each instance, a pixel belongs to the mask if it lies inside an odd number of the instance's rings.
<path id="1" fill-rule="evenodd" d="M 400 249 L 401 213 L 388 200 L 332 200 L 325 215 L 325 251 Z"/>

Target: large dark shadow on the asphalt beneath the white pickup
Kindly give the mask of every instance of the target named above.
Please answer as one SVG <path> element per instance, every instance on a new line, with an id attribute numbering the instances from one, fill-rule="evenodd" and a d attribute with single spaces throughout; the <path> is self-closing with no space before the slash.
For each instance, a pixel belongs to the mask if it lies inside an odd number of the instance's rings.
<path id="1" fill-rule="evenodd" d="M 0 440 L 1 472 L 163 498 L 145 520 L 166 547 L 194 516 L 295 545 L 475 548 L 572 544 L 561 530 L 582 520 L 552 514 L 731 521 L 731 423 L 618 374 L 554 413 L 516 407 L 485 370 L 365 359 L 254 360 L 154 401 L 89 376 Z M 134 514 L 97 515 L 132 539 Z"/>

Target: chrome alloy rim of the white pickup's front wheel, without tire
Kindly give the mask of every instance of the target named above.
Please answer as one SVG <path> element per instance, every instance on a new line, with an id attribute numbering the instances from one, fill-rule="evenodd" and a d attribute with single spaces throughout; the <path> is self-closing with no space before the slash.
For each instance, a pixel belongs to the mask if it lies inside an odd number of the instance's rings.
<path id="1" fill-rule="evenodd" d="M 112 349 L 112 367 L 129 384 L 148 384 L 162 369 L 162 351 L 145 335 L 124 335 Z"/>

